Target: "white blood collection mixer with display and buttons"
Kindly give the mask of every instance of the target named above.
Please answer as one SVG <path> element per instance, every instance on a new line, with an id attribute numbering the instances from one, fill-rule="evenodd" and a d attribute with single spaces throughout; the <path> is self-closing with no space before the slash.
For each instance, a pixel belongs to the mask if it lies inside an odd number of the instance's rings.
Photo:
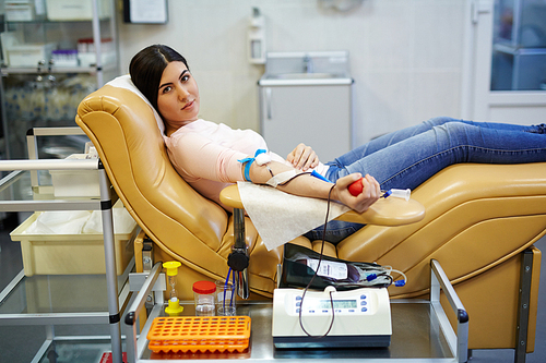
<path id="1" fill-rule="evenodd" d="M 272 334 L 276 348 L 390 344 L 392 324 L 387 288 L 335 291 L 327 287 L 324 291 L 307 291 L 304 299 L 302 294 L 304 290 L 289 288 L 275 289 L 273 293 Z"/>

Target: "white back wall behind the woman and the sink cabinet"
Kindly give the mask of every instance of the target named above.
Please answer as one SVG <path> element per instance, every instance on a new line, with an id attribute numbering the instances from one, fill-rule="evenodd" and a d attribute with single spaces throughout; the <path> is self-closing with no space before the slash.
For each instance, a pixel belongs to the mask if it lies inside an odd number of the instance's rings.
<path id="1" fill-rule="evenodd" d="M 348 50 L 356 140 L 436 116 L 459 117 L 463 0 L 364 0 L 346 13 L 319 0 L 169 0 L 166 25 L 120 22 L 122 71 L 143 47 L 179 50 L 200 86 L 201 117 L 259 131 L 257 82 L 247 61 L 252 7 L 266 20 L 270 51 Z"/>

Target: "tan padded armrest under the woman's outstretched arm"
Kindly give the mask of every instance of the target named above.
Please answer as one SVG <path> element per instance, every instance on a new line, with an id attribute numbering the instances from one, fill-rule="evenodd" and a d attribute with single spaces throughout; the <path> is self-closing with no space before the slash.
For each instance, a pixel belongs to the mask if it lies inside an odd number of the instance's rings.
<path id="1" fill-rule="evenodd" d="M 236 184 L 222 190 L 219 201 L 227 206 L 245 209 Z M 418 222 L 423 218 L 425 218 L 425 207 L 419 202 L 388 197 L 379 199 L 364 213 L 349 210 L 336 219 L 363 225 L 403 226 Z"/>

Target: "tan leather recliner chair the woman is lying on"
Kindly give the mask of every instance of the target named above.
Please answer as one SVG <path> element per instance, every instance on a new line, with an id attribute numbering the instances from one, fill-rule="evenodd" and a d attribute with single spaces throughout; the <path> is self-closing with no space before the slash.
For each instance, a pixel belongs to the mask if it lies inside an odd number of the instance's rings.
<path id="1" fill-rule="evenodd" d="M 81 102 L 76 123 L 95 144 L 124 206 L 154 242 L 155 261 L 182 263 L 181 299 L 192 299 L 197 280 L 225 278 L 234 239 L 230 215 L 175 171 L 150 106 L 128 89 L 106 85 Z M 533 243 L 546 228 L 546 164 L 453 166 L 412 197 L 426 207 L 425 219 L 403 227 L 366 226 L 336 247 L 330 245 L 329 253 L 403 270 L 408 282 L 390 288 L 392 298 L 426 295 L 429 262 L 438 259 L 468 311 L 470 348 L 488 349 L 514 348 L 520 256 L 532 247 L 532 352 L 541 267 Z M 271 297 L 282 249 L 268 252 L 250 220 L 246 239 L 253 297 Z M 135 251 L 142 269 L 142 238 Z"/>

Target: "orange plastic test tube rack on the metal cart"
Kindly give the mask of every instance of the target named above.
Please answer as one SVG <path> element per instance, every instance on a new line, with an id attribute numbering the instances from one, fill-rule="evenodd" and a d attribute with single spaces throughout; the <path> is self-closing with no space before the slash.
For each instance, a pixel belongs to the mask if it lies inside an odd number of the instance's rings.
<path id="1" fill-rule="evenodd" d="M 242 352 L 250 338 L 248 316 L 156 317 L 147 334 L 151 351 Z"/>

